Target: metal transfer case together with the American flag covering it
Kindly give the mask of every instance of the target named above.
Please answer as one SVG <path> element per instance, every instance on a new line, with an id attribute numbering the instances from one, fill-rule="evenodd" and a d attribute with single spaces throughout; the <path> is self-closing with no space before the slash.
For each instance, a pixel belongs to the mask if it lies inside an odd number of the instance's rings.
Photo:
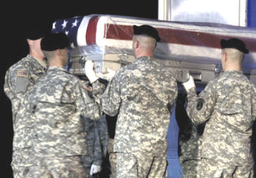
<path id="1" fill-rule="evenodd" d="M 209 22 L 170 22 L 121 15 L 86 15 L 53 23 L 53 32 L 65 32 L 72 42 L 69 71 L 83 76 L 86 60 L 95 62 L 95 71 L 115 71 L 135 61 L 132 49 L 133 25 L 155 27 L 161 41 L 154 57 L 183 82 L 188 74 L 196 83 L 206 84 L 222 72 L 220 40 L 242 39 L 250 50 L 243 71 L 256 83 L 256 29 Z"/>

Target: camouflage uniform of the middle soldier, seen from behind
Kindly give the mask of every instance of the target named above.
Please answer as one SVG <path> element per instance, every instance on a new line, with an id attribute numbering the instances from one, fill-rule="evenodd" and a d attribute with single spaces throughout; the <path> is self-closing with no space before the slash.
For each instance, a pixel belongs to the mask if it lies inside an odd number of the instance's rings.
<path id="1" fill-rule="evenodd" d="M 109 116 L 118 114 L 114 137 L 116 177 L 166 177 L 167 132 L 177 83 L 153 57 L 119 69 L 102 96 Z"/>

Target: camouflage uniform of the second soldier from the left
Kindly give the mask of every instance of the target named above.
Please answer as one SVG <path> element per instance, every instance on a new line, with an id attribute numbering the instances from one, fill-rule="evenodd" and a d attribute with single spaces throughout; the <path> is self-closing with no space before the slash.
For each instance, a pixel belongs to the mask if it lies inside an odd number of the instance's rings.
<path id="1" fill-rule="evenodd" d="M 102 116 L 100 97 L 105 85 L 93 83 L 93 95 L 76 76 L 60 67 L 49 67 L 27 93 L 29 111 L 34 114 L 33 156 L 36 163 L 27 177 L 88 177 L 81 156 L 88 152 L 83 116 Z M 95 102 L 97 100 L 97 102 Z"/>

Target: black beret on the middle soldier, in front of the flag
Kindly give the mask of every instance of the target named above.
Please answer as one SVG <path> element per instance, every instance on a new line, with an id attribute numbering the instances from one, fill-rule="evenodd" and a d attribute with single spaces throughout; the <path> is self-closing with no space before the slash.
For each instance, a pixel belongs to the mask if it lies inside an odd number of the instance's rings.
<path id="1" fill-rule="evenodd" d="M 150 25 L 133 25 L 133 34 L 144 34 L 156 39 L 156 41 L 161 40 L 159 37 L 159 32 L 157 32 L 157 30 Z"/>

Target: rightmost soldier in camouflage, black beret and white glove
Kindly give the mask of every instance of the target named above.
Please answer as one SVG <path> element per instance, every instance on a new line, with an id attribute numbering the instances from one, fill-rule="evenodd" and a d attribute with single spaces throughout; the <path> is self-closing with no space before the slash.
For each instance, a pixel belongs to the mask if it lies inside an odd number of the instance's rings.
<path id="1" fill-rule="evenodd" d="M 206 122 L 201 147 L 201 177 L 253 177 L 250 139 L 256 116 L 256 88 L 241 70 L 243 41 L 221 41 L 220 78 L 210 81 L 196 95 L 194 79 L 187 90 L 187 114 L 194 123 Z"/>

